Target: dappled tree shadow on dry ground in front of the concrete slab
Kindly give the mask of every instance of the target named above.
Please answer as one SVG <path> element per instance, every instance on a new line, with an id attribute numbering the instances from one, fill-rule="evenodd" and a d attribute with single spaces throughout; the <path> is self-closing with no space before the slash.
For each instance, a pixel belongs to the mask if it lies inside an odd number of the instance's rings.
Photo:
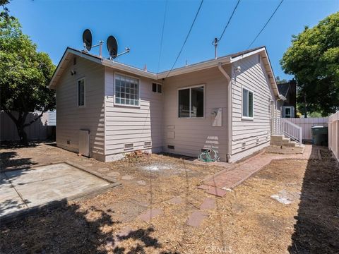
<path id="1" fill-rule="evenodd" d="M 146 253 L 145 247 L 162 248 L 157 238 L 151 236 L 152 226 L 119 236 L 112 225 L 121 222 L 114 221 L 112 213 L 95 207 L 81 210 L 79 205 L 69 205 L 66 200 L 58 202 L 56 207 L 54 202 L 53 207 L 44 207 L 24 219 L 1 225 L 0 252 Z M 117 246 L 118 242 L 131 240 L 135 244 L 130 249 Z"/>

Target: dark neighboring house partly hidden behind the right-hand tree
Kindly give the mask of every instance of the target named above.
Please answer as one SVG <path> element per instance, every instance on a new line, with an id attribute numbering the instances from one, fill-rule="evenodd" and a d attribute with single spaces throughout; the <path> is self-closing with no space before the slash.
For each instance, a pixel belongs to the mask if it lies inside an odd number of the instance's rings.
<path id="1" fill-rule="evenodd" d="M 281 116 L 284 118 L 296 118 L 297 82 L 290 80 L 288 83 L 278 84 L 278 90 L 286 98 L 281 107 Z"/>

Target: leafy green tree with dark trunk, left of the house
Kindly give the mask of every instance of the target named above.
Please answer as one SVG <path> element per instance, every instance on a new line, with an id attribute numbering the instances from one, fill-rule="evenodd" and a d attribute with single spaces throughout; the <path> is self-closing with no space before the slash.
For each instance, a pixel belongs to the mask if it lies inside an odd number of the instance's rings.
<path id="1" fill-rule="evenodd" d="M 18 20 L 5 11 L 0 15 L 0 109 L 16 124 L 20 142 L 28 145 L 25 128 L 55 107 L 54 91 L 47 87 L 55 66 L 46 53 L 37 52 Z M 26 122 L 34 110 L 41 114 Z"/>

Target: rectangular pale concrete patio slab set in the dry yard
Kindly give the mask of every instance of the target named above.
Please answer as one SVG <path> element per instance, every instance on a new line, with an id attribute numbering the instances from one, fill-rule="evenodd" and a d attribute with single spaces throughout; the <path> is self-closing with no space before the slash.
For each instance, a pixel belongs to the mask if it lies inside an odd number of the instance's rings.
<path id="1" fill-rule="evenodd" d="M 0 180 L 0 218 L 52 201 L 113 187 L 109 181 L 68 163 L 5 171 Z"/>

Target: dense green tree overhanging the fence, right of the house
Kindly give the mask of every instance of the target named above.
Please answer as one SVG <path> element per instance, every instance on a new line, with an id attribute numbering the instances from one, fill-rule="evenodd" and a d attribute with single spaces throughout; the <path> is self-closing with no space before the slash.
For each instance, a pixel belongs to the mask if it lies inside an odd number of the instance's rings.
<path id="1" fill-rule="evenodd" d="M 292 46 L 280 60 L 287 74 L 295 75 L 298 102 L 322 114 L 339 107 L 339 12 L 292 36 Z"/>

